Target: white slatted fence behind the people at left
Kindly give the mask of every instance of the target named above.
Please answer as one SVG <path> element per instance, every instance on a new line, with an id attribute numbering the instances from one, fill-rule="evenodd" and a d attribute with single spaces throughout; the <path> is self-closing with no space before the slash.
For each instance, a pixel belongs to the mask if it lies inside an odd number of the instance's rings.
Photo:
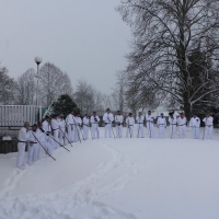
<path id="1" fill-rule="evenodd" d="M 42 106 L 33 105 L 0 105 L 0 126 L 23 126 L 24 122 L 30 124 L 42 119 Z"/>

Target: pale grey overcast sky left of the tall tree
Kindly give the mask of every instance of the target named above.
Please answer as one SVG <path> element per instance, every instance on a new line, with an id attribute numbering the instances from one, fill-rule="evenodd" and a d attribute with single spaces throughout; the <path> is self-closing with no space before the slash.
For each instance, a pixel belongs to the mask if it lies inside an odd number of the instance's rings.
<path id="1" fill-rule="evenodd" d="M 18 78 L 35 56 L 76 81 L 110 94 L 126 66 L 130 28 L 115 11 L 119 0 L 1 0 L 0 62 Z"/>

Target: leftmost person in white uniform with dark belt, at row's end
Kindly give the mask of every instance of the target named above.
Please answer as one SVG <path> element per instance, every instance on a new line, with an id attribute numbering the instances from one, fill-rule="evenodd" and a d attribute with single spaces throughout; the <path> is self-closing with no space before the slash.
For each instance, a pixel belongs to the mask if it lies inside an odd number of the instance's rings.
<path id="1" fill-rule="evenodd" d="M 24 123 L 24 127 L 22 127 L 19 130 L 19 136 L 18 136 L 18 160 L 16 160 L 16 168 L 23 169 L 25 166 L 24 164 L 24 155 L 25 155 L 25 146 L 26 146 L 26 140 L 28 138 L 28 130 L 30 124 L 28 122 Z"/>

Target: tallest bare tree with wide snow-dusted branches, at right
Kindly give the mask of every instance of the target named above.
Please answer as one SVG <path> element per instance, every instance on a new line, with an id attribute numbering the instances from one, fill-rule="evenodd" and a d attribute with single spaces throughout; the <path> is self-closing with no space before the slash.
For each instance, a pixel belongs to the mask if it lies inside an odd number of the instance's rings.
<path id="1" fill-rule="evenodd" d="M 132 51 L 127 56 L 128 92 L 138 95 L 138 102 L 143 103 L 153 91 L 161 102 L 171 96 L 189 117 L 195 103 L 218 93 L 218 82 L 204 80 L 214 72 L 205 65 L 198 91 L 194 91 L 197 78 L 189 65 L 196 60 L 188 60 L 197 48 L 207 60 L 218 60 L 218 8 L 216 0 L 122 2 L 117 10 L 134 33 Z M 205 92 L 196 95 L 200 90 Z"/>

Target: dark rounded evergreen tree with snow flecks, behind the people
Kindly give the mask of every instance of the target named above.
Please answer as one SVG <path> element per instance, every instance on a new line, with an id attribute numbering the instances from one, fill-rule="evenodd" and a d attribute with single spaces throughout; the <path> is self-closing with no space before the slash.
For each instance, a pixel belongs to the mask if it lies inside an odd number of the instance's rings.
<path id="1" fill-rule="evenodd" d="M 62 94 L 58 97 L 58 100 L 56 102 L 51 103 L 51 105 L 49 106 L 49 110 L 48 110 L 48 115 L 62 114 L 64 117 L 67 117 L 67 115 L 71 111 L 74 111 L 76 113 L 80 112 L 79 107 L 73 102 L 73 100 L 68 94 Z"/>

